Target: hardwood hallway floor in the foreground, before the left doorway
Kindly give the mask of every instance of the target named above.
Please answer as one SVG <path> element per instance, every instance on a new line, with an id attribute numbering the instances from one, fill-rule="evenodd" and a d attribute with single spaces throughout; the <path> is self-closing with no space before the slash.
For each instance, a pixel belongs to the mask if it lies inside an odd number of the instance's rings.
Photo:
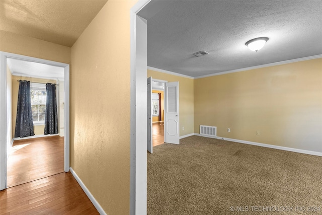
<path id="1" fill-rule="evenodd" d="M 0 214 L 99 214 L 70 172 L 0 191 Z"/>

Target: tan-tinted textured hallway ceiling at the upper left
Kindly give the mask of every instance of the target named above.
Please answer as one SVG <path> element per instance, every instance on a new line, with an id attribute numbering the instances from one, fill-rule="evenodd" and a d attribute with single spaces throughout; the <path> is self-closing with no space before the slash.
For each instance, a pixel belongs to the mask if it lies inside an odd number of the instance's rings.
<path id="1" fill-rule="evenodd" d="M 1 0 L 0 30 L 71 47 L 107 0 Z"/>

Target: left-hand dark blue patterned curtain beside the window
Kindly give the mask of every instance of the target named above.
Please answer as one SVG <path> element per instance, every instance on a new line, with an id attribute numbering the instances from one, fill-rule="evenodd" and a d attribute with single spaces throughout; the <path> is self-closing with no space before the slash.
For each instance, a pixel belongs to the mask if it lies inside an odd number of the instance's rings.
<path id="1" fill-rule="evenodd" d="M 31 111 L 30 82 L 21 80 L 19 82 L 15 137 L 33 136 L 35 133 Z"/>

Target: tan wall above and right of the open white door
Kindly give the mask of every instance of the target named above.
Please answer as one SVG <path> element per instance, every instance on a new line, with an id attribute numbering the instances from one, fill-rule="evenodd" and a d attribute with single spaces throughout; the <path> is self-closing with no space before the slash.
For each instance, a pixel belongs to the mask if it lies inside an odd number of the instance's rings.
<path id="1" fill-rule="evenodd" d="M 147 70 L 147 77 L 168 82 L 179 82 L 179 123 L 180 136 L 194 132 L 194 80 L 181 76 L 174 76 L 158 71 Z M 185 127 L 182 130 L 182 127 Z"/>

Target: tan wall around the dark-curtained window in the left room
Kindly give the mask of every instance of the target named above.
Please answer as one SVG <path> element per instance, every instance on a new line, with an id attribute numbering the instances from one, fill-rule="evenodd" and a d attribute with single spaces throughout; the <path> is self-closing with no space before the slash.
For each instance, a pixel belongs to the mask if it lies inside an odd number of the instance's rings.
<path id="1" fill-rule="evenodd" d="M 21 76 L 12 76 L 12 135 L 15 136 L 15 126 L 17 119 L 17 105 L 18 105 L 18 93 L 19 93 L 19 82 L 17 80 L 26 80 L 37 83 L 56 83 L 55 80 L 49 79 L 38 79 L 38 78 L 27 78 Z M 34 125 L 35 135 L 44 134 L 45 125 Z"/>

